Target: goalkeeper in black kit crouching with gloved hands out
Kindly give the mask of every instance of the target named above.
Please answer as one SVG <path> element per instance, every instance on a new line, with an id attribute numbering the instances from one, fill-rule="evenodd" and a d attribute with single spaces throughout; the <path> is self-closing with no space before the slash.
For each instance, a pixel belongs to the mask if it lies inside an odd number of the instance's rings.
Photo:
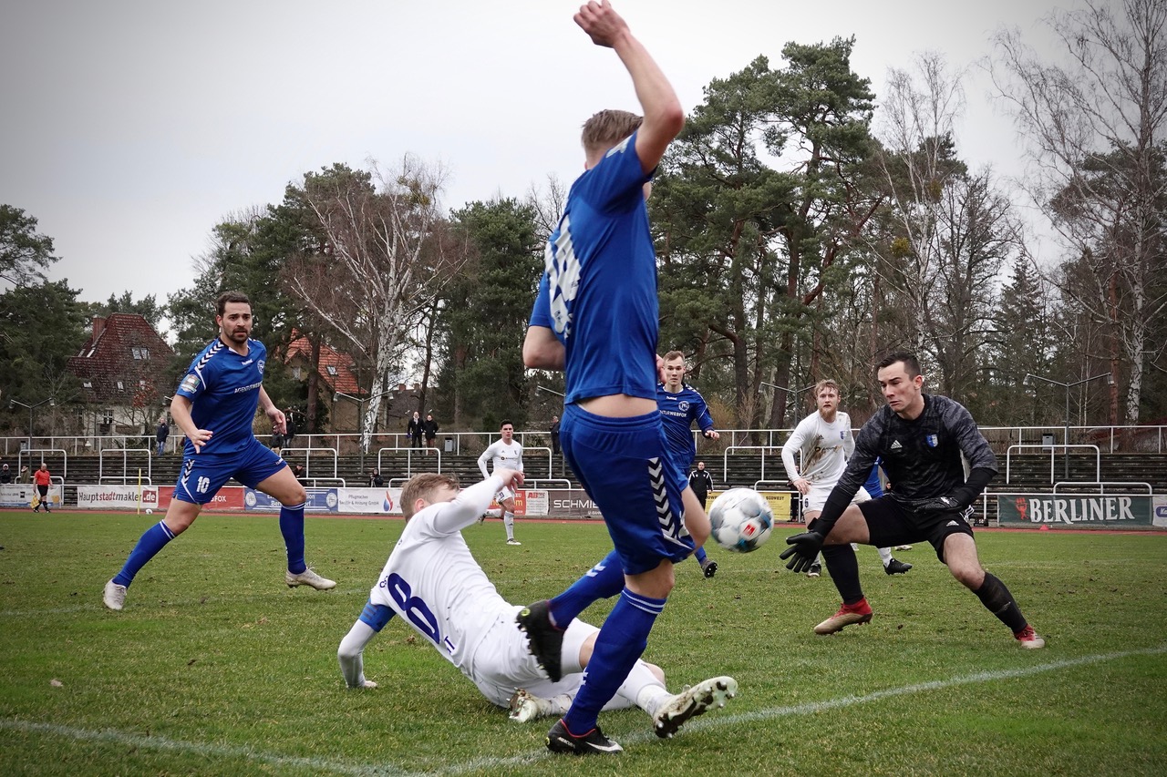
<path id="1" fill-rule="evenodd" d="M 855 452 L 823 512 L 806 532 L 787 538 L 790 547 L 781 556 L 795 572 L 809 569 L 820 550 L 826 556 L 843 607 L 815 632 L 834 634 L 872 620 L 851 542 L 887 547 L 928 541 L 952 576 L 1009 628 L 1022 648 L 1043 648 L 1046 640 L 1021 615 L 1008 588 L 977 558 L 971 505 L 997 474 L 997 457 L 972 415 L 948 397 L 923 392 L 924 377 L 911 354 L 885 358 L 876 365 L 876 378 L 887 405 L 859 430 Z M 962 454 L 971 468 L 967 480 Z M 876 459 L 894 490 L 852 505 Z"/>

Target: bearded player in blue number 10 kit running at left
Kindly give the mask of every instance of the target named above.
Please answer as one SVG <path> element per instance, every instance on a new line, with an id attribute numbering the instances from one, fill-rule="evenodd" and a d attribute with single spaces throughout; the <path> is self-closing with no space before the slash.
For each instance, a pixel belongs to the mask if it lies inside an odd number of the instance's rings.
<path id="1" fill-rule="evenodd" d="M 336 586 L 309 569 L 303 561 L 303 506 L 307 494 L 274 452 L 259 442 L 251 425 L 263 406 L 280 434 L 287 420 L 264 391 L 267 349 L 251 340 L 251 301 L 238 292 L 225 292 L 216 302 L 219 336 L 195 357 L 170 401 L 170 415 L 187 435 L 182 469 L 166 517 L 141 536 L 125 566 L 105 583 L 102 601 L 120 610 L 126 589 L 138 570 L 167 542 L 184 532 L 202 506 L 232 477 L 278 499 L 280 533 L 287 547 L 288 587 L 310 586 L 327 590 Z"/>

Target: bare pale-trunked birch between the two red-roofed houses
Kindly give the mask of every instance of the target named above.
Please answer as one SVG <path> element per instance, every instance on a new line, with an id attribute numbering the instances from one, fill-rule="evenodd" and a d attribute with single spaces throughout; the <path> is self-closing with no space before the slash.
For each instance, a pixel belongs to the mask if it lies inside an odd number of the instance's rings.
<path id="1" fill-rule="evenodd" d="M 302 205 L 323 239 L 284 275 L 292 294 L 372 366 L 365 449 L 410 331 L 456 271 L 436 231 L 443 170 L 411 156 L 393 170 L 372 167 L 372 174 L 335 166 L 305 176 Z"/>

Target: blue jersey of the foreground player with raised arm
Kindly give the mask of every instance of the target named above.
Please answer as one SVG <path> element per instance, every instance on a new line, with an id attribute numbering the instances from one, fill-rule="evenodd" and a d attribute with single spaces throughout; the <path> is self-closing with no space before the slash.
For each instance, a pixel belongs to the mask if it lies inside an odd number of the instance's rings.
<path id="1" fill-rule="evenodd" d="M 656 253 L 633 134 L 578 177 L 547 240 L 531 326 L 564 344 L 566 404 L 656 398 Z"/>

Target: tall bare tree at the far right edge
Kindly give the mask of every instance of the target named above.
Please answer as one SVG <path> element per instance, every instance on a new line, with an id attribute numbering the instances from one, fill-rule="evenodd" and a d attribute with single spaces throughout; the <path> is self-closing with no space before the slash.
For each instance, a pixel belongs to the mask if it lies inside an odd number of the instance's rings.
<path id="1" fill-rule="evenodd" d="M 1018 30 L 1001 30 L 988 69 L 1028 140 L 1030 195 L 1093 280 L 1089 296 L 1062 290 L 1110 323 L 1111 371 L 1125 362 L 1125 416 L 1137 424 L 1144 371 L 1165 348 L 1151 335 L 1167 313 L 1167 285 L 1158 280 L 1167 274 L 1167 2 L 1085 0 L 1047 24 L 1065 65 L 1042 62 Z"/>

